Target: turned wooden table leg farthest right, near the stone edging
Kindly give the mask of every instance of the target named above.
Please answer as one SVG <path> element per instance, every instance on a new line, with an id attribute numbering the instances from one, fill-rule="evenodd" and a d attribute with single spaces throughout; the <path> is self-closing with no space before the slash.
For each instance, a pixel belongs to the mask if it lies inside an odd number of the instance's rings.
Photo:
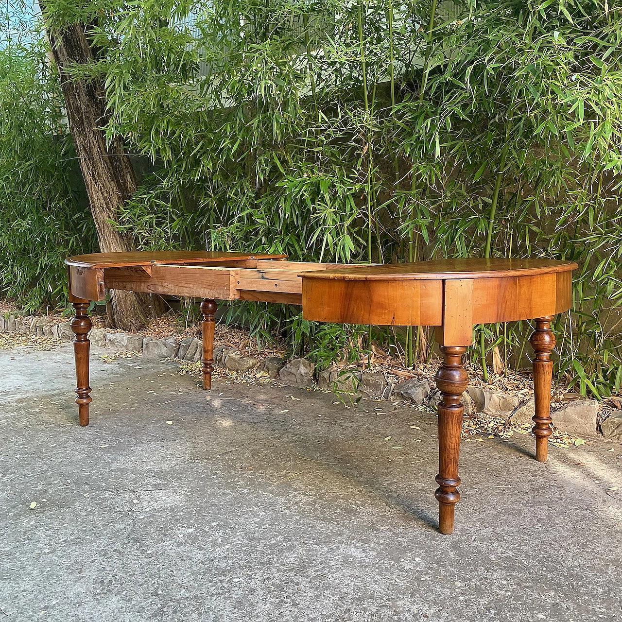
<path id="1" fill-rule="evenodd" d="M 550 429 L 550 386 L 553 378 L 553 361 L 550 354 L 555 348 L 555 335 L 550 330 L 553 317 L 541 317 L 536 320 L 536 332 L 531 335 L 529 343 L 534 348 L 534 414 L 533 433 L 536 435 L 536 460 L 545 462 L 549 450 Z"/>

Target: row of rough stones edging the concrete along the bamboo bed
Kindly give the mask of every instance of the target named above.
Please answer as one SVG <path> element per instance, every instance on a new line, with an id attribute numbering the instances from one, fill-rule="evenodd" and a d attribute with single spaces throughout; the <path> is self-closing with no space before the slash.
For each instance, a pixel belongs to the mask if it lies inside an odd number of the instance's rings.
<path id="1" fill-rule="evenodd" d="M 69 322 L 58 322 L 58 318 L 47 316 L 0 315 L 0 330 L 22 334 L 71 341 L 73 332 Z M 177 341 L 174 337 L 156 339 L 139 334 L 109 333 L 103 328 L 93 328 L 89 333 L 91 343 L 107 346 L 118 352 L 142 352 L 153 359 L 178 358 L 190 363 L 200 361 L 203 355 L 202 341 L 187 337 Z M 440 401 L 440 394 L 435 387 L 425 380 L 409 378 L 400 383 L 390 382 L 383 373 L 377 371 L 360 371 L 358 369 L 340 369 L 332 366 L 315 373 L 315 366 L 305 358 L 285 361 L 282 358 L 270 357 L 259 360 L 253 356 L 243 356 L 236 348 L 218 346 L 214 351 L 216 365 L 230 371 L 264 372 L 269 378 L 279 379 L 282 383 L 294 386 L 310 387 L 317 378 L 321 389 L 330 389 L 337 393 L 356 394 L 374 399 L 391 399 L 397 397 L 402 401 L 417 406 L 428 404 L 435 406 Z M 509 396 L 499 392 L 469 387 L 463 393 L 465 413 L 484 413 L 511 419 L 519 424 L 531 423 L 534 412 L 534 398 L 521 401 L 518 396 Z M 571 434 L 582 437 L 594 437 L 598 432 L 608 439 L 622 443 L 622 411 L 614 411 L 596 427 L 596 416 L 599 404 L 596 400 L 579 399 L 564 404 L 553 412 L 555 425 Z"/>

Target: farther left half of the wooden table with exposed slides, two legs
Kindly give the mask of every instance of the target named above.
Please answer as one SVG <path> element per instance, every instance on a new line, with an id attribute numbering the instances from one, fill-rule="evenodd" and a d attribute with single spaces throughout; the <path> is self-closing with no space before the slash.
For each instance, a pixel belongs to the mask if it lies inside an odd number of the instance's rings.
<path id="1" fill-rule="evenodd" d="M 149 258 L 150 261 L 145 261 Z M 214 371 L 216 300 L 258 300 L 302 305 L 299 274 L 341 267 L 287 261 L 283 255 L 245 253 L 109 253 L 67 260 L 70 288 L 78 304 L 74 332 L 80 425 L 88 425 L 88 350 L 91 327 L 86 309 L 90 300 L 104 300 L 107 289 L 148 294 L 200 297 L 203 332 L 203 388 L 211 389 Z M 78 297 L 79 296 L 79 297 Z M 85 304 L 85 305 L 84 305 Z M 75 305 L 74 305 L 75 306 Z M 88 328 L 84 332 L 88 322 Z M 86 358 L 85 358 L 86 356 Z M 80 400 L 80 401 L 78 401 Z"/>

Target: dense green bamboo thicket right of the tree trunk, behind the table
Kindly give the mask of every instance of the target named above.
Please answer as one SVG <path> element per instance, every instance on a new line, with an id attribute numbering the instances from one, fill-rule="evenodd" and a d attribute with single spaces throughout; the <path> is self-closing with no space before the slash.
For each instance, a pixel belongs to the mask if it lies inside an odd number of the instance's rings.
<path id="1" fill-rule="evenodd" d="M 92 23 L 121 133 L 151 175 L 121 214 L 142 248 L 315 261 L 550 256 L 580 264 L 560 376 L 622 379 L 621 9 L 591 0 L 49 2 Z M 230 318 L 320 360 L 360 328 Z M 258 319 L 256 319 L 258 318 Z M 319 332 L 318 332 L 319 331 Z M 518 364 L 525 322 L 474 359 Z M 327 337 L 328 335 L 332 337 Z M 386 333 L 385 333 L 386 334 Z M 427 358 L 429 330 L 399 345 Z M 388 340 L 388 337 L 385 337 Z M 492 352 L 492 355 L 490 353 Z"/>

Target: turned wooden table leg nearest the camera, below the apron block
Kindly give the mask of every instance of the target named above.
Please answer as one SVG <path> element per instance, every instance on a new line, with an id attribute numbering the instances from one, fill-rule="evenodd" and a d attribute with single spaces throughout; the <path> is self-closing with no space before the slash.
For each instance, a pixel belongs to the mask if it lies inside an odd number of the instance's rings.
<path id="1" fill-rule="evenodd" d="M 440 346 L 443 363 L 435 376 L 436 386 L 441 393 L 439 402 L 439 488 L 434 496 L 439 501 L 439 529 L 442 534 L 453 532 L 453 511 L 460 501 L 457 487 L 458 452 L 462 433 L 464 407 L 460 397 L 468 385 L 468 374 L 462 363 L 466 352 L 464 346 Z"/>

